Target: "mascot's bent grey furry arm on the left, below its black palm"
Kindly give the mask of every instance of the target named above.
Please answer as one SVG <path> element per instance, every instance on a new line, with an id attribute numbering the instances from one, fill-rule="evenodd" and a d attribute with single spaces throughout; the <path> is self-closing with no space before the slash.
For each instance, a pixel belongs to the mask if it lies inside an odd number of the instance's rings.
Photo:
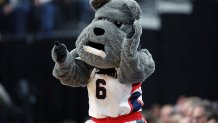
<path id="1" fill-rule="evenodd" d="M 62 84 L 72 87 L 84 87 L 88 84 L 88 79 L 93 68 L 77 59 L 78 54 L 75 49 L 71 52 L 67 51 L 65 60 L 58 62 L 54 47 L 52 49 L 52 58 L 55 61 L 53 76 L 59 79 Z"/>

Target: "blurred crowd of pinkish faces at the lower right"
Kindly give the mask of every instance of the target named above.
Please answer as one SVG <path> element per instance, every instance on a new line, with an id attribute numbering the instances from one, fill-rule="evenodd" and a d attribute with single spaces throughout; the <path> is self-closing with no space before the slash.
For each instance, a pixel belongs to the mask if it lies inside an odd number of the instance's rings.
<path id="1" fill-rule="evenodd" d="M 218 123 L 218 102 L 181 96 L 176 104 L 154 104 L 143 115 L 148 123 Z"/>

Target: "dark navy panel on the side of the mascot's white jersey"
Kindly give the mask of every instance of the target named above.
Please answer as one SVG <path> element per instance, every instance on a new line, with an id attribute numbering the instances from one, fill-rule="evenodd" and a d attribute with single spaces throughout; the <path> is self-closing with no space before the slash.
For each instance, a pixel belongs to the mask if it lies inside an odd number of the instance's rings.
<path id="1" fill-rule="evenodd" d="M 133 106 L 133 112 L 137 112 L 139 109 L 142 108 L 142 105 L 141 103 L 139 103 L 137 101 L 137 99 L 141 96 L 141 93 L 140 92 L 134 92 L 131 94 L 130 96 L 130 103 L 132 104 Z"/>

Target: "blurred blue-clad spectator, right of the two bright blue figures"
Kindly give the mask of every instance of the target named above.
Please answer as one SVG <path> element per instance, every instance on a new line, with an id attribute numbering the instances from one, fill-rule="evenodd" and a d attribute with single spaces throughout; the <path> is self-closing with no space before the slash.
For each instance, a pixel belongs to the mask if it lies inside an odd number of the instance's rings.
<path id="1" fill-rule="evenodd" d="M 54 29 L 55 8 L 52 0 L 34 0 L 39 20 L 39 32 L 43 38 L 51 38 Z"/>

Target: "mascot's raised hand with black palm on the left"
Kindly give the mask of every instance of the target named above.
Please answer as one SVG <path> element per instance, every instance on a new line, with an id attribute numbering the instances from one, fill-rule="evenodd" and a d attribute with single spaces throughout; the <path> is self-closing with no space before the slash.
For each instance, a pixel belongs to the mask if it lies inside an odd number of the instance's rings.
<path id="1" fill-rule="evenodd" d="M 62 63 L 66 60 L 67 48 L 64 44 L 59 41 L 54 42 L 54 47 L 52 49 L 52 59 L 55 62 Z"/>

